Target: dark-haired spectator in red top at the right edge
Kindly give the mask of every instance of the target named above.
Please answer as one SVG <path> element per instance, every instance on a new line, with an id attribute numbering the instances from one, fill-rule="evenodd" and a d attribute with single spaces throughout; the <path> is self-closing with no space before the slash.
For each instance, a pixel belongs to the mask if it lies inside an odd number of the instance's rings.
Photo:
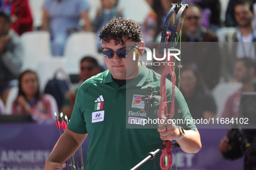
<path id="1" fill-rule="evenodd" d="M 243 91 L 254 91 L 253 82 L 255 81 L 256 62 L 248 57 L 238 59 L 235 64 L 234 75 L 237 82 L 242 82 L 243 87 L 232 94 L 226 102 L 223 118 L 239 116 L 240 97 Z"/>

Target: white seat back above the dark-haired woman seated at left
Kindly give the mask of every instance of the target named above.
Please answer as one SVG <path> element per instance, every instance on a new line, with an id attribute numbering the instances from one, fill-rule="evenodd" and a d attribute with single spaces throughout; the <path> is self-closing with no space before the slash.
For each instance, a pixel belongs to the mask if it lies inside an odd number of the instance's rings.
<path id="1" fill-rule="evenodd" d="M 21 36 L 24 48 L 23 68 L 36 70 L 37 63 L 52 56 L 50 35 L 46 31 L 26 32 Z"/>

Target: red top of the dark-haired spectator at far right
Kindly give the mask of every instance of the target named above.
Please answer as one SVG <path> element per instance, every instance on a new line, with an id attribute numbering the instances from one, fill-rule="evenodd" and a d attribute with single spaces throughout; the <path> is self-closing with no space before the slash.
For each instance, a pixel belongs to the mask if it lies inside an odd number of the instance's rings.
<path id="1" fill-rule="evenodd" d="M 240 98 L 243 92 L 243 88 L 239 88 L 234 94 L 232 94 L 226 102 L 224 111 L 222 112 L 223 118 L 237 118 L 239 116 Z"/>

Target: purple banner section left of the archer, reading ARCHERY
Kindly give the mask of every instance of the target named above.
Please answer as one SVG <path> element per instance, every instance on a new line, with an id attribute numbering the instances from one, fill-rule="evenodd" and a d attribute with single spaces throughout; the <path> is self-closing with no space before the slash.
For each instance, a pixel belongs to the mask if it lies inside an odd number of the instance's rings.
<path id="1" fill-rule="evenodd" d="M 0 124 L 0 170 L 44 170 L 58 138 L 55 124 Z M 82 145 L 84 158 L 88 142 Z"/>

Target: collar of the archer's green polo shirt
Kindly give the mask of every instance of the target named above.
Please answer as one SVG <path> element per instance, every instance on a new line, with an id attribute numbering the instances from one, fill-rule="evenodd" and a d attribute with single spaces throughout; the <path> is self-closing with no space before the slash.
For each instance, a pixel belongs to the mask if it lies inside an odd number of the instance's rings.
<path id="1" fill-rule="evenodd" d="M 144 82 L 146 82 L 148 75 L 149 75 L 149 69 L 145 65 L 142 65 L 137 76 L 133 79 L 132 82 L 130 82 L 128 84 L 129 85 L 131 84 L 132 86 L 143 86 Z M 113 77 L 112 77 L 110 71 L 107 70 L 107 73 L 103 80 L 103 83 L 106 84 L 106 83 L 110 83 L 113 81 L 114 80 L 113 80 Z M 126 84 L 126 87 L 128 84 Z"/>

